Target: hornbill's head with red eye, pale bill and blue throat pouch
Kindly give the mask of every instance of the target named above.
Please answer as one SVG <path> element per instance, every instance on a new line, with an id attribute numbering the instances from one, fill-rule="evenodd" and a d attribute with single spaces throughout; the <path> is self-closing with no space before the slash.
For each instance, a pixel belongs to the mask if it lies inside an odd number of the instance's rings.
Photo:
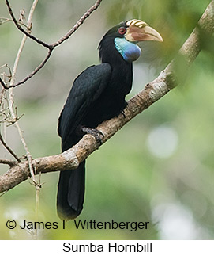
<path id="1" fill-rule="evenodd" d="M 115 25 L 103 36 L 103 40 L 114 40 L 115 48 L 122 55 L 122 58 L 129 63 L 137 60 L 141 55 L 141 48 L 137 46 L 138 42 L 163 42 L 159 32 L 152 29 L 145 21 L 137 19 Z M 101 40 L 99 48 L 103 40 Z"/>

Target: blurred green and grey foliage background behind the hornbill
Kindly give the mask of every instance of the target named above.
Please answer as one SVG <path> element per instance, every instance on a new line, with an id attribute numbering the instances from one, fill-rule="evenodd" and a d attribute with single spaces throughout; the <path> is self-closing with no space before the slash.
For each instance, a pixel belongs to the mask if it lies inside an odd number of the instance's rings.
<path id="1" fill-rule="evenodd" d="M 32 1 L 11 0 L 16 17 Z M 32 33 L 47 43 L 63 36 L 94 4 L 94 0 L 39 1 Z M 151 82 L 192 32 L 208 0 L 115 0 L 101 3 L 84 25 L 54 50 L 39 73 L 13 90 L 20 125 L 33 158 L 60 152 L 58 116 L 73 79 L 99 63 L 97 46 L 111 26 L 140 18 L 163 36 L 163 44 L 140 44 L 134 63 L 133 90 Z M 0 17 L 9 17 L 4 1 Z M 0 66 L 13 67 L 21 38 L 12 22 L 0 25 Z M 127 124 L 87 160 L 84 210 L 80 220 L 149 221 L 148 230 L 84 230 L 73 224 L 63 230 L 39 231 L 39 239 L 213 239 L 214 237 L 214 50 L 213 37 L 181 84 Z M 28 40 L 21 55 L 17 81 L 43 60 L 46 49 Z M 0 72 L 6 71 L 2 69 Z M 185 74 L 185 75 L 184 75 Z M 1 129 L 3 129 L 1 127 Z M 6 128 L 6 141 L 24 155 L 17 130 Z M 10 155 L 0 146 L 0 157 Z M 0 166 L 0 174 L 8 170 Z M 61 221 L 56 214 L 58 173 L 42 175 L 39 221 Z M 32 231 L 6 229 L 6 220 L 32 221 L 35 188 L 24 181 L 0 197 L 1 239 L 32 239 Z"/>

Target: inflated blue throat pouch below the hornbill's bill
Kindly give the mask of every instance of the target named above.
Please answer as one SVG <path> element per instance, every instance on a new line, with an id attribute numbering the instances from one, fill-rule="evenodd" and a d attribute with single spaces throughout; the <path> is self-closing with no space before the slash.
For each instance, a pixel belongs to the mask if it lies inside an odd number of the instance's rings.
<path id="1" fill-rule="evenodd" d="M 136 44 L 130 43 L 125 38 L 115 38 L 115 48 L 122 55 L 122 58 L 131 63 L 141 55 L 141 48 Z"/>

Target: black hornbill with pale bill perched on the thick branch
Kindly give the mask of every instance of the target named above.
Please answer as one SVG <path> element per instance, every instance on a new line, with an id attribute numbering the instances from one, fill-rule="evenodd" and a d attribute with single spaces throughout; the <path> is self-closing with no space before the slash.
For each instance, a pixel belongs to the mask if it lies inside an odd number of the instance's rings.
<path id="1" fill-rule="evenodd" d="M 84 70 L 73 82 L 58 120 L 62 151 L 75 145 L 85 133 L 100 138 L 96 126 L 122 113 L 133 81 L 133 61 L 141 55 L 139 41 L 163 41 L 144 21 L 121 22 L 99 43 L 99 65 Z M 85 160 L 75 170 L 60 172 L 57 209 L 61 219 L 74 219 L 84 203 Z"/>

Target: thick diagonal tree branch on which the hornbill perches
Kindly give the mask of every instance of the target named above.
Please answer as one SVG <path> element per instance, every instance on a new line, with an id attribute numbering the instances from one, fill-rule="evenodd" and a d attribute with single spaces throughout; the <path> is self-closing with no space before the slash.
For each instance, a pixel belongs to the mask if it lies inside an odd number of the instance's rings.
<path id="1" fill-rule="evenodd" d="M 197 54 L 201 51 L 201 30 L 208 36 L 211 36 L 214 32 L 214 0 L 209 4 L 198 22 L 197 28 L 193 30 L 190 37 L 182 45 L 182 48 L 179 51 L 179 54 L 186 59 L 186 63 L 188 64 L 192 63 L 197 57 Z M 103 143 L 110 139 L 111 136 L 114 136 L 114 134 L 133 117 L 147 109 L 155 101 L 159 100 L 167 94 L 167 92 L 177 86 L 177 82 L 175 81 L 175 71 L 173 69 L 175 62 L 176 58 L 160 72 L 160 75 L 155 80 L 148 83 L 144 90 L 128 101 L 128 105 L 126 106 L 126 109 L 124 109 L 126 117 L 121 114 L 118 117 L 114 117 L 111 120 L 99 124 L 97 129 L 99 129 L 100 132 L 103 132 Z M 34 159 L 32 164 L 33 166 L 36 166 L 37 174 L 57 170 L 76 169 L 84 159 L 98 148 L 99 144 L 96 143 L 96 139 L 93 136 L 85 135 L 68 151 L 59 155 Z M 0 177 L 0 192 L 13 188 L 26 180 L 29 176 L 28 162 L 18 163 L 16 166 L 10 168 L 6 174 L 3 174 Z"/>

